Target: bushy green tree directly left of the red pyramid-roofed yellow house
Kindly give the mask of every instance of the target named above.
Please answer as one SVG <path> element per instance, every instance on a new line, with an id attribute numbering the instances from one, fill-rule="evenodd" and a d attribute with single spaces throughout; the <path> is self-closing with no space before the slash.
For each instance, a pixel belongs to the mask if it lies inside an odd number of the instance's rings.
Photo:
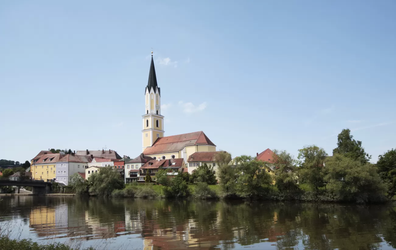
<path id="1" fill-rule="evenodd" d="M 236 194 L 244 198 L 256 198 L 266 193 L 272 177 L 262 167 L 263 162 L 247 155 L 236 157 L 238 174 Z"/>

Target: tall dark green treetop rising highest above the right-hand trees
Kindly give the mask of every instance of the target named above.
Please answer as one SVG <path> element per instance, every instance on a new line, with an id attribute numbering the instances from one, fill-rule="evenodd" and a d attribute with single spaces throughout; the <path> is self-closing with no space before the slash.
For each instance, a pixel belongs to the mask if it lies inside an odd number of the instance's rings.
<path id="1" fill-rule="evenodd" d="M 337 147 L 333 149 L 334 154 L 345 155 L 352 160 L 358 160 L 362 164 L 369 162 L 371 155 L 367 154 L 362 147 L 361 141 L 353 139 L 353 135 L 350 135 L 350 129 L 343 129 L 337 137 Z"/>

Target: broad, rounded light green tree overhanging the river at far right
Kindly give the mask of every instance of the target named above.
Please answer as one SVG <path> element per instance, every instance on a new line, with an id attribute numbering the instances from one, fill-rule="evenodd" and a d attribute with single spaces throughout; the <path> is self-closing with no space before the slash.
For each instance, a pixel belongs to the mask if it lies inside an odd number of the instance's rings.
<path id="1" fill-rule="evenodd" d="M 386 187 L 370 163 L 335 154 L 326 160 L 327 190 L 340 200 L 358 203 L 384 200 Z"/>

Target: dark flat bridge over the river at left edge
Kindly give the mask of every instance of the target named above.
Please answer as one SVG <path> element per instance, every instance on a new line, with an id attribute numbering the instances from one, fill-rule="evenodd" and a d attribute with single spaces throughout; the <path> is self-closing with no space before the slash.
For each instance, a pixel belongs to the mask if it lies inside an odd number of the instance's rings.
<path id="1" fill-rule="evenodd" d="M 46 180 L 34 180 L 29 178 L 15 178 L 6 177 L 0 178 L 0 188 L 3 186 L 16 186 L 15 193 L 19 194 L 19 189 L 21 187 L 32 187 L 33 195 L 48 194 L 51 192 L 52 182 L 50 179 Z"/>

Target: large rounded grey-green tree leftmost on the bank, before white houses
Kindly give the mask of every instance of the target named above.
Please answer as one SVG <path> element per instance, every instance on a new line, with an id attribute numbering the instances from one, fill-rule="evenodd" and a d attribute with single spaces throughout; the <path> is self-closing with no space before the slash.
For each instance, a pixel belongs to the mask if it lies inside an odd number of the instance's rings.
<path id="1" fill-rule="evenodd" d="M 124 180 L 112 167 L 102 167 L 88 177 L 89 192 L 98 196 L 110 196 L 114 189 L 122 189 Z"/>

